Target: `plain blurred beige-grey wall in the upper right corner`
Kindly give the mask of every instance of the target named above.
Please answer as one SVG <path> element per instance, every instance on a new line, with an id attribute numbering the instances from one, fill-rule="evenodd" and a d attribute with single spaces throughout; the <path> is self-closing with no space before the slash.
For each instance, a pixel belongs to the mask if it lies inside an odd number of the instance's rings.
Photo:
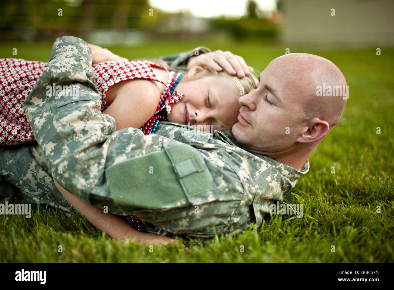
<path id="1" fill-rule="evenodd" d="M 394 45 L 394 0 L 281 0 L 282 43 Z M 331 9 L 335 8 L 335 16 Z"/>

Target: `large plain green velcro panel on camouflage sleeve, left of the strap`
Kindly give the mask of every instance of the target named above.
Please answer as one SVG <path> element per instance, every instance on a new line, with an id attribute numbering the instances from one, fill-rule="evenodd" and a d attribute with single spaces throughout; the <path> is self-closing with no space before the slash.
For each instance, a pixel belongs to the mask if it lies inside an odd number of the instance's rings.
<path id="1" fill-rule="evenodd" d="M 106 178 L 115 203 L 125 211 L 164 209 L 187 201 L 163 150 L 116 163 L 107 168 Z"/>

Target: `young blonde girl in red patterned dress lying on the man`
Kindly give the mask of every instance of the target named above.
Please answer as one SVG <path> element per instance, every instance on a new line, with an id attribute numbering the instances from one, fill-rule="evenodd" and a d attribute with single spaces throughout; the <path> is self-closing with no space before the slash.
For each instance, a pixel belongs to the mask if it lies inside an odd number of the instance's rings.
<path id="1" fill-rule="evenodd" d="M 117 130 L 136 127 L 145 135 L 153 134 L 161 120 L 195 125 L 204 131 L 228 129 L 237 122 L 238 97 L 257 84 L 253 74 L 240 79 L 204 65 L 187 72 L 171 71 L 164 64 L 129 62 L 95 45 L 90 47 L 101 111 L 115 119 Z M 112 60 L 101 62 L 103 55 Z M 22 103 L 46 66 L 44 62 L 0 59 L 0 145 L 34 141 Z"/>

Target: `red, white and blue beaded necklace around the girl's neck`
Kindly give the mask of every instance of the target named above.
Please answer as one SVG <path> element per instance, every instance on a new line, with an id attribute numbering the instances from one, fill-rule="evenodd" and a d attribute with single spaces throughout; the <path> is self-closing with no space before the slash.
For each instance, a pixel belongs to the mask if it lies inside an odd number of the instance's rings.
<path id="1" fill-rule="evenodd" d="M 177 103 L 184 96 L 183 94 L 179 95 L 178 92 L 174 90 L 182 76 L 182 73 L 176 73 L 175 71 L 171 71 L 169 73 L 166 89 L 160 96 L 160 102 L 157 106 L 156 112 L 148 120 L 148 122 L 146 122 L 141 127 L 141 131 L 145 135 L 154 134 L 158 123 L 160 121 L 167 120 L 164 114 L 159 114 L 162 109 L 165 107 L 167 114 L 170 114 L 172 112 L 173 105 L 175 105 L 175 103 Z"/>

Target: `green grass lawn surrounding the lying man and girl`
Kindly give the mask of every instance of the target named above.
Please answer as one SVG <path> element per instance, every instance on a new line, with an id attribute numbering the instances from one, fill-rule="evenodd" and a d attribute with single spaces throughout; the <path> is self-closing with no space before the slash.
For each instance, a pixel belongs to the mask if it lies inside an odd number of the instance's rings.
<path id="1" fill-rule="evenodd" d="M 262 71 L 288 46 L 189 41 L 108 47 L 133 58 L 155 58 L 205 45 L 242 55 Z M 51 44 L 8 43 L 0 58 L 47 61 Z M 212 241 L 167 246 L 111 240 L 85 219 L 35 207 L 32 217 L 0 216 L 0 262 L 394 262 L 394 49 L 290 47 L 332 60 L 344 72 L 349 99 L 341 122 L 310 157 L 310 172 L 286 202 L 302 218 L 275 216 L 262 226 Z M 376 127 L 381 134 L 376 134 Z M 335 174 L 331 167 L 335 166 Z M 377 213 L 380 206 L 380 213 Z M 58 245 L 63 252 L 58 253 Z M 240 249 L 244 246 L 244 252 Z M 335 245 L 335 253 L 331 246 Z"/>

